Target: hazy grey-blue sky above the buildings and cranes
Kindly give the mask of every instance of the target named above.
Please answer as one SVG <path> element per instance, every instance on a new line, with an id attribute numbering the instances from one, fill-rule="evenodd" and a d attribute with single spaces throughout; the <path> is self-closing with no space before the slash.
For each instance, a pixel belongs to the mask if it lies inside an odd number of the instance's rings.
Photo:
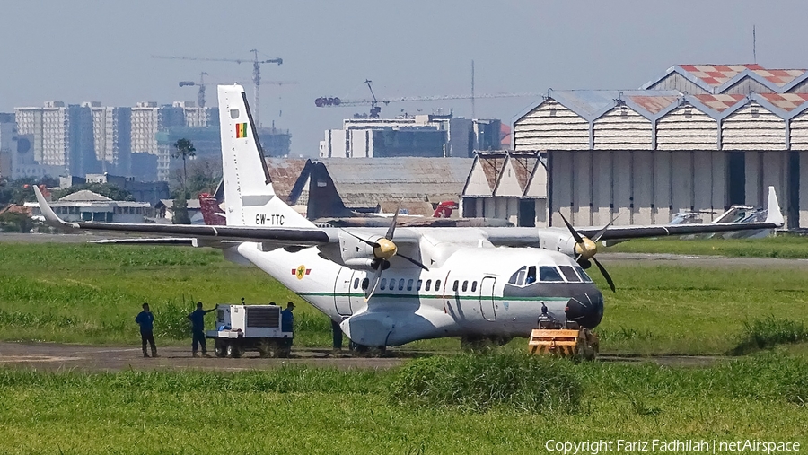
<path id="1" fill-rule="evenodd" d="M 805 68 L 804 1 L 736 0 L 5 0 L 0 4 L 0 112 L 44 101 L 196 101 L 180 81 L 242 82 L 261 68 L 261 123 L 289 129 L 294 156 L 316 156 L 324 131 L 368 107 L 317 108 L 314 99 L 632 89 L 673 65 L 757 63 Z M 296 84 L 272 85 L 270 81 Z M 208 87 L 208 105 L 215 89 Z M 538 97 L 478 99 L 478 118 L 510 124 Z M 450 110 L 469 100 L 382 106 L 382 116 Z"/>

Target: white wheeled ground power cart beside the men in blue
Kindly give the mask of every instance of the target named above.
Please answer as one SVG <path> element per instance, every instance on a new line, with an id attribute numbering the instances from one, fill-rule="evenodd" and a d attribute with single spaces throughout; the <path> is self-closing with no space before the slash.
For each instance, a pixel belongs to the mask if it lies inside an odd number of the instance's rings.
<path id="1" fill-rule="evenodd" d="M 281 329 L 277 305 L 218 305 L 216 329 L 205 336 L 214 340 L 216 357 L 237 359 L 246 351 L 261 357 L 288 357 L 292 332 Z"/>

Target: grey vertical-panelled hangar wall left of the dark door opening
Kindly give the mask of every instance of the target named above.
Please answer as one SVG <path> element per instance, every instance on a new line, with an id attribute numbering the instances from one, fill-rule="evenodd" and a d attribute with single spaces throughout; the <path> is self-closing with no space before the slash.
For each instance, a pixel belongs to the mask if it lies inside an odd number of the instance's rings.
<path id="1" fill-rule="evenodd" d="M 563 224 L 558 212 L 578 226 L 618 215 L 615 225 L 669 223 L 680 211 L 721 214 L 726 160 L 719 151 L 550 151 L 553 225 Z"/>

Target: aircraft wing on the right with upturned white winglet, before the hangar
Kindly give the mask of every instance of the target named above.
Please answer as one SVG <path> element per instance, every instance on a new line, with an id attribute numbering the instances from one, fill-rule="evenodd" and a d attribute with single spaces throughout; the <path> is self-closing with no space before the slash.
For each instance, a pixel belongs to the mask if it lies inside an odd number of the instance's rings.
<path id="1" fill-rule="evenodd" d="M 664 237 L 666 235 L 688 235 L 712 232 L 760 231 L 783 227 L 785 220 L 780 213 L 777 193 L 774 187 L 768 187 L 768 206 L 766 220 L 760 223 L 705 223 L 705 224 L 668 224 L 652 226 L 617 226 L 603 232 L 600 240 L 630 240 L 647 237 Z M 581 235 L 592 238 L 601 231 L 600 228 L 575 228 Z"/>

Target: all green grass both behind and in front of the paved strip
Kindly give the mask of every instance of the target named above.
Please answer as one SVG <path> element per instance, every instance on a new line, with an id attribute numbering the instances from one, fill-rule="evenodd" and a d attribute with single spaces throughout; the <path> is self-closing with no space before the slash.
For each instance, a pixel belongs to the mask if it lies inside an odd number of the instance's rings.
<path id="1" fill-rule="evenodd" d="M 808 337 L 804 270 L 608 267 L 619 292 L 606 295 L 604 351 L 721 354 L 750 337 Z M 328 319 L 215 250 L 0 244 L 6 340 L 137 345 L 133 319 L 146 301 L 158 343 L 182 344 L 193 302 L 241 297 L 301 303 L 296 343 L 329 346 Z M 524 346 L 517 339 L 496 357 L 427 356 L 386 371 L 0 368 L 0 453 L 542 453 L 548 440 L 598 439 L 808 444 L 805 343 L 706 367 L 514 354 Z"/>

